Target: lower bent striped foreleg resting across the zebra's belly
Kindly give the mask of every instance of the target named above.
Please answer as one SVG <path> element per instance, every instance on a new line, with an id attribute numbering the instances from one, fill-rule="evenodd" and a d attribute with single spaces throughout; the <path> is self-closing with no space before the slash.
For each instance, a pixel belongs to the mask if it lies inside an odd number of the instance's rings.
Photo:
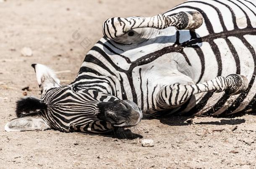
<path id="1" fill-rule="evenodd" d="M 236 95 L 246 90 L 248 80 L 243 75 L 231 74 L 226 78 L 219 76 L 211 81 L 194 85 L 175 83 L 163 86 L 157 93 L 157 110 L 176 108 L 188 101 L 193 95 L 202 92 L 222 92 L 227 95 Z"/>

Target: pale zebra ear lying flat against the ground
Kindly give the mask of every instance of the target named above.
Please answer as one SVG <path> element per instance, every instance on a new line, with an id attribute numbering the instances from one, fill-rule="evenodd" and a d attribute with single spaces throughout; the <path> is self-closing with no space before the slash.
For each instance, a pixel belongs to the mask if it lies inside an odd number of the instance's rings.
<path id="1" fill-rule="evenodd" d="M 39 115 L 12 119 L 10 122 L 5 124 L 5 131 L 31 131 L 46 129 L 50 129 L 50 126 L 46 124 Z"/>

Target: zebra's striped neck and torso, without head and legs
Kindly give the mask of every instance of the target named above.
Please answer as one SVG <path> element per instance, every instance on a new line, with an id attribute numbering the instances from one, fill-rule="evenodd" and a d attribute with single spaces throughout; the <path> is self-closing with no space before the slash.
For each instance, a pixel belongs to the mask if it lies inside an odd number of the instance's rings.
<path id="1" fill-rule="evenodd" d="M 254 109 L 255 2 L 191 0 L 165 15 L 191 10 L 204 17 L 203 25 L 195 32 L 166 28 L 159 38 L 128 47 L 103 37 L 86 55 L 73 83 L 134 101 L 144 112 L 151 113 L 161 86 L 183 83 L 180 73 L 191 83 L 236 73 L 248 78 L 246 92 L 235 96 L 200 93 L 196 104 L 188 101 L 172 112 L 210 115 Z"/>

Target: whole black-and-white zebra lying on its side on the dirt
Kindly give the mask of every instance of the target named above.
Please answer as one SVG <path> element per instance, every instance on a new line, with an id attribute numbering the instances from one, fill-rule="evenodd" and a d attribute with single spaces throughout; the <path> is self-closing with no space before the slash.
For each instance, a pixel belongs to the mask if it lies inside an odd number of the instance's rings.
<path id="1" fill-rule="evenodd" d="M 142 112 L 255 110 L 255 11 L 253 0 L 191 0 L 154 17 L 110 18 L 71 84 L 32 65 L 42 96 L 17 101 L 5 130 L 102 133 L 138 124 Z"/>

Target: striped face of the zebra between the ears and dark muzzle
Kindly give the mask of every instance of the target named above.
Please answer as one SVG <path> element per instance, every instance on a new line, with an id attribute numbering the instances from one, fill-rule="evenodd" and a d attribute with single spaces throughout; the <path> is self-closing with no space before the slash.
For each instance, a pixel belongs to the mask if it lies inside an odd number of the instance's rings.
<path id="1" fill-rule="evenodd" d="M 91 88 L 93 83 L 89 86 L 62 86 L 42 93 L 41 100 L 47 104 L 42 119 L 60 131 L 102 133 L 112 129 L 110 123 L 97 118 L 99 110 L 96 107 L 100 101 L 114 101 L 117 98 L 107 93 L 99 94 Z"/>

